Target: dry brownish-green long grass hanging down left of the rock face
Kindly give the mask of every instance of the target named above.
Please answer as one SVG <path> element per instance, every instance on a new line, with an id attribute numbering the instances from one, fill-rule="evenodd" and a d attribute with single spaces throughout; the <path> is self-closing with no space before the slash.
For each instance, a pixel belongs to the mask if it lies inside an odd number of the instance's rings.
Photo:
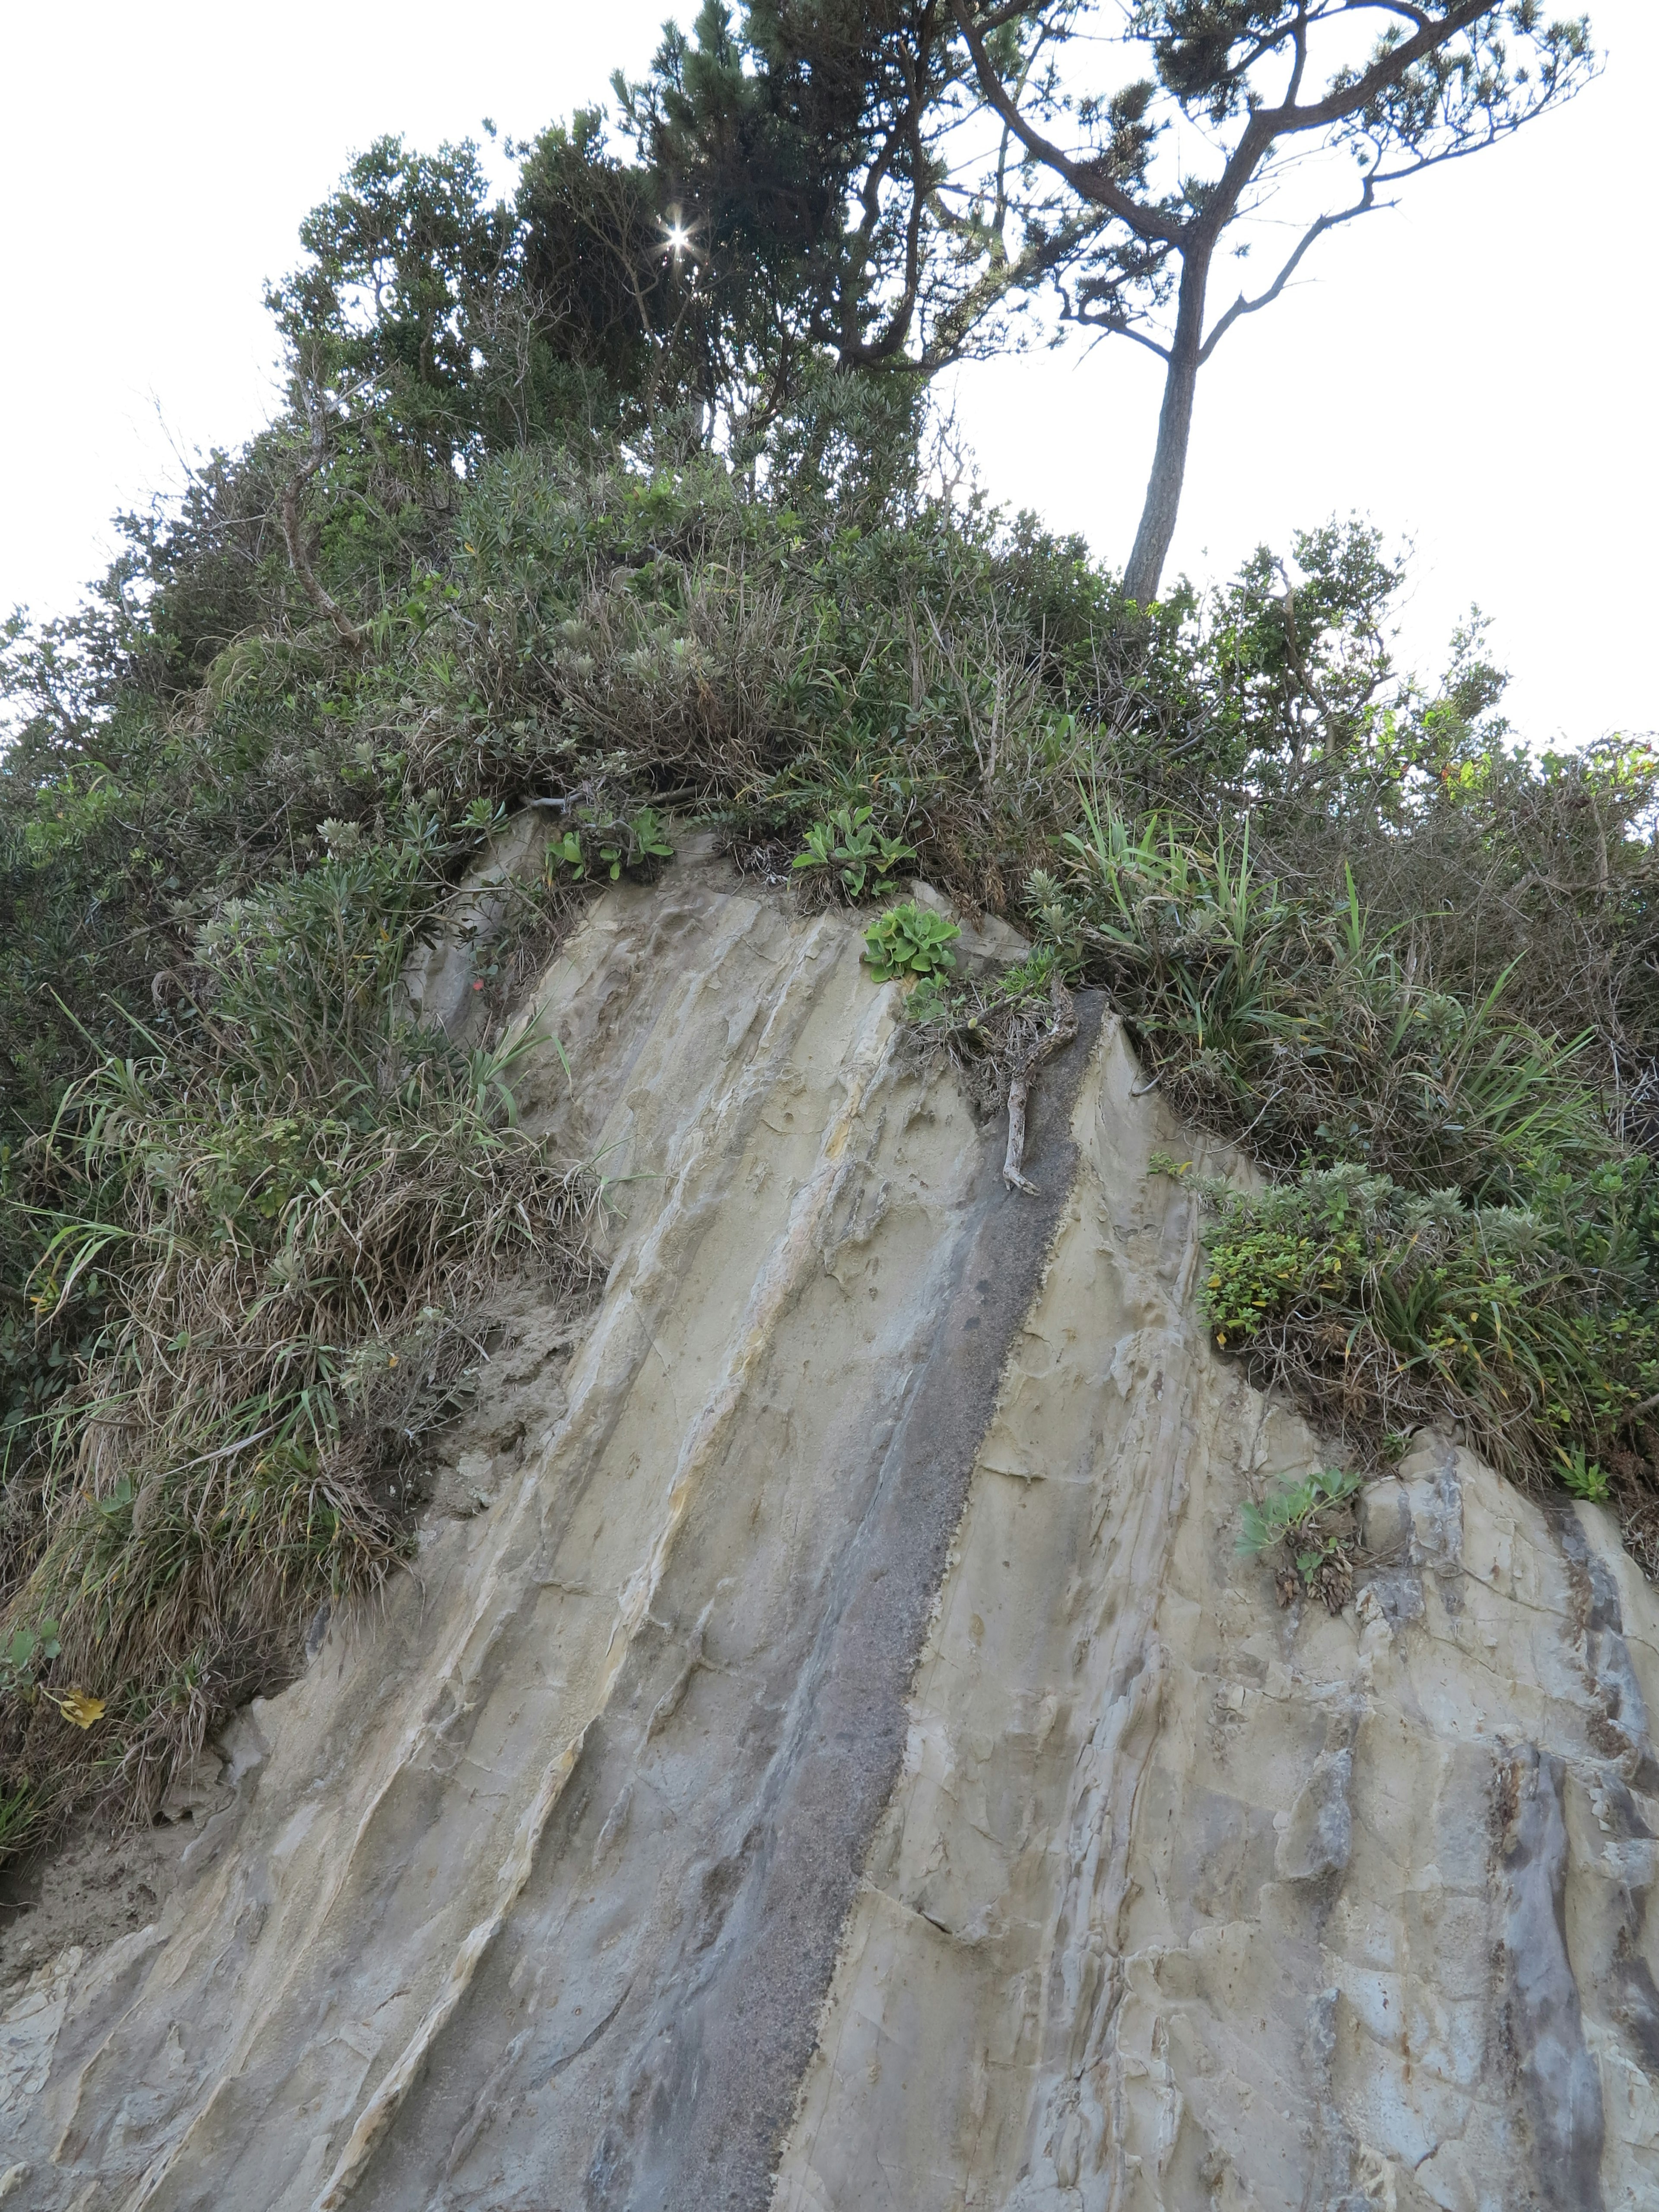
<path id="1" fill-rule="evenodd" d="M 409 1458 L 504 1279 L 575 1298 L 595 1276 L 597 1181 L 518 1128 L 529 1040 L 458 1053 L 385 993 L 372 1020 L 336 876 L 217 942 L 210 1051 L 100 1062 L 40 1159 L 29 1298 L 42 1327 L 104 1318 L 9 1491 L 0 1635 L 55 1621 L 0 1708 L 20 1836 L 86 1798 L 153 1814 L 316 1606 L 403 1557 Z"/>

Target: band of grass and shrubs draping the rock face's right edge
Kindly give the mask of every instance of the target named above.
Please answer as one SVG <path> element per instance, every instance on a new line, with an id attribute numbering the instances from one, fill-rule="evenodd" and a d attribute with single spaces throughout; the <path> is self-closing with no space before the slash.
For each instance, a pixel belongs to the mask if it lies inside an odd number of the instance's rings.
<path id="1" fill-rule="evenodd" d="M 1321 900 L 1259 872 L 1248 821 L 1088 796 L 1031 896 L 1170 1104 L 1276 1177 L 1201 1186 L 1217 1345 L 1363 1458 L 1442 1422 L 1522 1482 L 1601 1464 L 1659 1566 L 1659 1188 L 1590 1040 L 1513 1018 L 1506 973 L 1436 989 L 1352 874 Z"/>

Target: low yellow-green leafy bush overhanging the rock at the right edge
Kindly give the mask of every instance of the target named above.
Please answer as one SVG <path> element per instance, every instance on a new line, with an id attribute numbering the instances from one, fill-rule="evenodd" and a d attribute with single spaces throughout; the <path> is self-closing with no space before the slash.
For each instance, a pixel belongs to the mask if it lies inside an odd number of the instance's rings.
<path id="1" fill-rule="evenodd" d="M 1535 1478 L 1595 1451 L 1628 1460 L 1621 1433 L 1659 1389 L 1646 1159 L 1537 1159 L 1526 1203 L 1411 1192 L 1356 1166 L 1199 1190 L 1217 1345 L 1287 1376 L 1329 1425 L 1363 1442 L 1462 1422 L 1495 1467 Z"/>

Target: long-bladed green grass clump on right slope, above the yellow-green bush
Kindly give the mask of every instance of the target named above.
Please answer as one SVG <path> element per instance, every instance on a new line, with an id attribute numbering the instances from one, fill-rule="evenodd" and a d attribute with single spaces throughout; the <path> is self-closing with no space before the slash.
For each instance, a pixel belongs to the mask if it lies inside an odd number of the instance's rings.
<path id="1" fill-rule="evenodd" d="M 1409 1188 L 1515 1194 L 1531 1161 L 1588 1164 L 1608 1137 L 1559 1044 L 1504 1013 L 1506 975 L 1467 1000 L 1411 978 L 1345 896 L 1298 896 L 1252 865 L 1250 827 L 1183 838 L 1082 801 L 1062 874 L 1031 898 L 1135 1022 L 1166 1095 L 1250 1133 L 1281 1168 L 1363 1164 Z"/>

